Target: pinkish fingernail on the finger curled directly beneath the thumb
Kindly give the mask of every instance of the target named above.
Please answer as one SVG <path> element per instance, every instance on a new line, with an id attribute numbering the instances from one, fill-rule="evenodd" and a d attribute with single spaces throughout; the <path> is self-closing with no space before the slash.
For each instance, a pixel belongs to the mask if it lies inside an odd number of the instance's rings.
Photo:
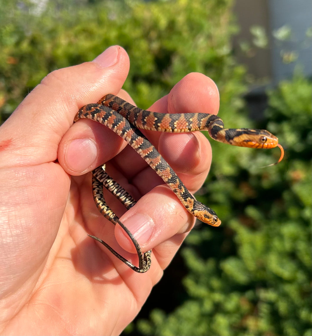
<path id="1" fill-rule="evenodd" d="M 91 139 L 75 139 L 66 147 L 65 161 L 73 171 L 85 171 L 92 165 L 96 157 L 97 146 Z"/>

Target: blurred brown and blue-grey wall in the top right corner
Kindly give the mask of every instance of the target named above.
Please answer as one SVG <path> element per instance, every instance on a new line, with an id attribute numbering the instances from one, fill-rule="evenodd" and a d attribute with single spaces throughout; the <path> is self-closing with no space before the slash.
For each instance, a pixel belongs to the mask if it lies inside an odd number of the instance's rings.
<path id="1" fill-rule="evenodd" d="M 310 0 L 236 0 L 234 13 L 240 33 L 233 38 L 233 47 L 239 60 L 248 67 L 251 86 L 275 85 L 281 79 L 291 78 L 298 65 L 305 76 L 312 76 L 312 42 L 306 36 L 312 26 Z M 252 43 L 250 27 L 256 25 L 266 31 L 267 48 L 257 48 Z M 277 40 L 272 32 L 284 25 L 291 28 L 291 38 Z M 248 52 L 240 50 L 242 41 L 249 42 Z M 287 55 L 296 55 L 297 59 L 287 62 Z"/>

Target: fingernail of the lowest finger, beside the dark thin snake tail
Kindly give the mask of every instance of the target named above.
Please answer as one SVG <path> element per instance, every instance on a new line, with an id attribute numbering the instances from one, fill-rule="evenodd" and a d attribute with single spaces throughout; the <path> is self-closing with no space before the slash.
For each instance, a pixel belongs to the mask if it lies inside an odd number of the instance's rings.
<path id="1" fill-rule="evenodd" d="M 154 231 L 154 221 L 147 215 L 135 214 L 126 219 L 124 225 L 141 243 L 148 242 Z"/>

